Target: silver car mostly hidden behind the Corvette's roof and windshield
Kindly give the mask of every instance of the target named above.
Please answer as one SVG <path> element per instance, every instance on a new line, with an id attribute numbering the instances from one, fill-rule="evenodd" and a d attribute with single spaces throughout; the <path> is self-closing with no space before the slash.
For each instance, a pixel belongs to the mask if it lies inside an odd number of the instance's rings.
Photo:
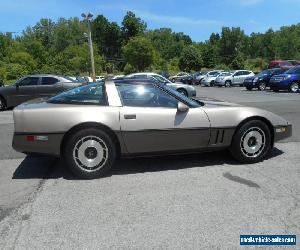
<path id="1" fill-rule="evenodd" d="M 179 93 L 188 96 L 188 97 L 194 97 L 196 96 L 196 89 L 193 86 L 189 86 L 183 83 L 173 83 L 170 82 L 167 78 L 156 74 L 156 73 L 134 73 L 127 75 L 126 78 L 133 78 L 133 79 L 145 79 L 145 78 L 153 78 L 154 80 L 158 81 L 162 84 L 167 84 L 169 87 L 177 90 Z"/>

